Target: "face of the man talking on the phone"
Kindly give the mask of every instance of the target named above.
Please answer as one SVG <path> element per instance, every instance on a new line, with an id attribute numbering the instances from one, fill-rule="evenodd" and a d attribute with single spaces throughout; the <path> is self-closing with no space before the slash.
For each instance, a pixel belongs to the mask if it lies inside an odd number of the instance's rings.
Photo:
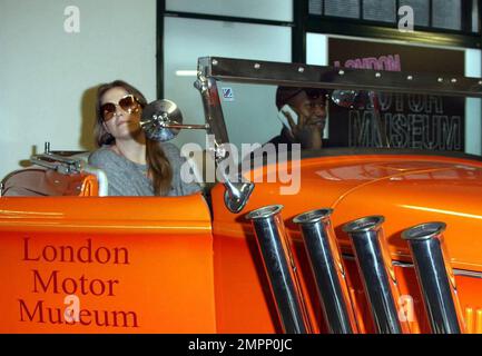
<path id="1" fill-rule="evenodd" d="M 323 131 L 326 125 L 326 98 L 309 98 L 305 91 L 293 98 L 291 106 L 298 113 L 298 127 L 312 127 Z"/>

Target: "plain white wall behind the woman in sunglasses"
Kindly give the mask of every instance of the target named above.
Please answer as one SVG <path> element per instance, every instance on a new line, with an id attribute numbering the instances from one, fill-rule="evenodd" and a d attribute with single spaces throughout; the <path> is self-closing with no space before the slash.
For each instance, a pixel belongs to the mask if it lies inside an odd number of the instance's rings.
<path id="1" fill-rule="evenodd" d="M 0 0 L 0 179 L 47 140 L 94 149 L 92 87 L 115 79 L 155 99 L 156 0 Z"/>

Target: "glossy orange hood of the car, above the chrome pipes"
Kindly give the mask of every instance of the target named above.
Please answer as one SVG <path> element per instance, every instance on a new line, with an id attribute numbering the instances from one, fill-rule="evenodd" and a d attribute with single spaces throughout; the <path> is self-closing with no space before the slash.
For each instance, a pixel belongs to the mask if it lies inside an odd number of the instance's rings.
<path id="1" fill-rule="evenodd" d="M 267 174 L 272 169 L 267 168 Z M 257 172 L 260 174 L 260 170 Z M 331 207 L 342 248 L 350 249 L 342 226 L 368 216 L 385 217 L 384 231 L 394 259 L 410 260 L 400 237 L 414 225 L 444 221 L 445 241 L 455 268 L 482 271 L 482 162 L 417 155 L 357 155 L 303 159 L 301 189 L 281 195 L 278 184 L 258 182 L 244 212 L 284 205 L 288 229 L 297 214 Z"/>

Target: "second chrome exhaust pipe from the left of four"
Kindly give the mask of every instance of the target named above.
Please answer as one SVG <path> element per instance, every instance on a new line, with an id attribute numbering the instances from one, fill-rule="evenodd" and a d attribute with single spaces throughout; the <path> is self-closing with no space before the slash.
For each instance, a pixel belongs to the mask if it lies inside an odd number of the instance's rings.
<path id="1" fill-rule="evenodd" d="M 332 209 L 312 210 L 296 216 L 306 254 L 316 281 L 319 304 L 331 334 L 357 330 L 345 268 L 329 216 Z"/>

